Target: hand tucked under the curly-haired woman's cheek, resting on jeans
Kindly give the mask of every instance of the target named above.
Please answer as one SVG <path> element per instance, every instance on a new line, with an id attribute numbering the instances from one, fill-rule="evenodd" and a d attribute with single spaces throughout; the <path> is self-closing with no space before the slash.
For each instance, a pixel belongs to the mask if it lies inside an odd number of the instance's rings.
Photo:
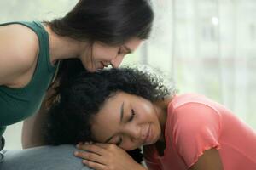
<path id="1" fill-rule="evenodd" d="M 95 170 L 131 170 L 145 168 L 134 161 L 125 150 L 115 144 L 78 144 L 75 156 L 83 160 L 83 163 Z"/>

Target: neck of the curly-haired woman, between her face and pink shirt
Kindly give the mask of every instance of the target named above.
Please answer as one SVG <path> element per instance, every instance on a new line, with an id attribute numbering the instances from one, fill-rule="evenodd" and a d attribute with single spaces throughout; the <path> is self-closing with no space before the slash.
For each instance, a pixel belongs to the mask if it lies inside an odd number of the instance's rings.
<path id="1" fill-rule="evenodd" d="M 165 129 L 166 129 L 166 120 L 167 120 L 167 110 L 168 105 L 172 101 L 172 96 L 166 96 L 164 99 L 160 99 L 154 102 L 155 109 L 158 114 L 161 127 L 161 136 L 160 141 L 165 141 Z"/>

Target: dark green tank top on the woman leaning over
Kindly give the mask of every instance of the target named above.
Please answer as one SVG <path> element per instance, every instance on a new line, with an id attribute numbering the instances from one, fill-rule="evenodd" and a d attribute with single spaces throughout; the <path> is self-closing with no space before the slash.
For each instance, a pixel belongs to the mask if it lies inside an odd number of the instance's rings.
<path id="1" fill-rule="evenodd" d="M 0 26 L 9 24 L 20 24 L 32 29 L 38 36 L 39 54 L 32 80 L 24 88 L 0 86 L 0 135 L 6 126 L 20 122 L 38 111 L 56 71 L 56 66 L 49 61 L 49 36 L 41 23 L 11 22 Z"/>

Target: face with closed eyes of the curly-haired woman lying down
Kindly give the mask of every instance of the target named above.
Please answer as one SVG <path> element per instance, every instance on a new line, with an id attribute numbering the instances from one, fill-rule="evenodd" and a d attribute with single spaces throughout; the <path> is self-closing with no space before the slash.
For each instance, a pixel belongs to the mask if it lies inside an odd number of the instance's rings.
<path id="1" fill-rule="evenodd" d="M 96 142 L 117 144 L 134 150 L 160 139 L 160 115 L 152 102 L 136 95 L 118 92 L 109 98 L 91 119 Z"/>

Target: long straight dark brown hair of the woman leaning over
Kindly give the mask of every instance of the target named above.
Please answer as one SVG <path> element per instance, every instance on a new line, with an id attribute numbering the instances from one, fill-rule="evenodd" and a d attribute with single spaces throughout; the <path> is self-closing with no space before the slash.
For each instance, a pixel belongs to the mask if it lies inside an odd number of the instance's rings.
<path id="1" fill-rule="evenodd" d="M 91 46 L 96 41 L 114 46 L 124 44 L 132 37 L 147 39 L 153 20 L 149 0 L 79 0 L 63 18 L 46 24 L 59 36 L 89 42 L 90 54 Z M 61 61 L 55 87 L 69 82 L 70 77 L 81 71 L 84 71 L 84 66 L 79 59 Z M 58 91 L 48 104 L 55 100 L 57 94 Z"/>

